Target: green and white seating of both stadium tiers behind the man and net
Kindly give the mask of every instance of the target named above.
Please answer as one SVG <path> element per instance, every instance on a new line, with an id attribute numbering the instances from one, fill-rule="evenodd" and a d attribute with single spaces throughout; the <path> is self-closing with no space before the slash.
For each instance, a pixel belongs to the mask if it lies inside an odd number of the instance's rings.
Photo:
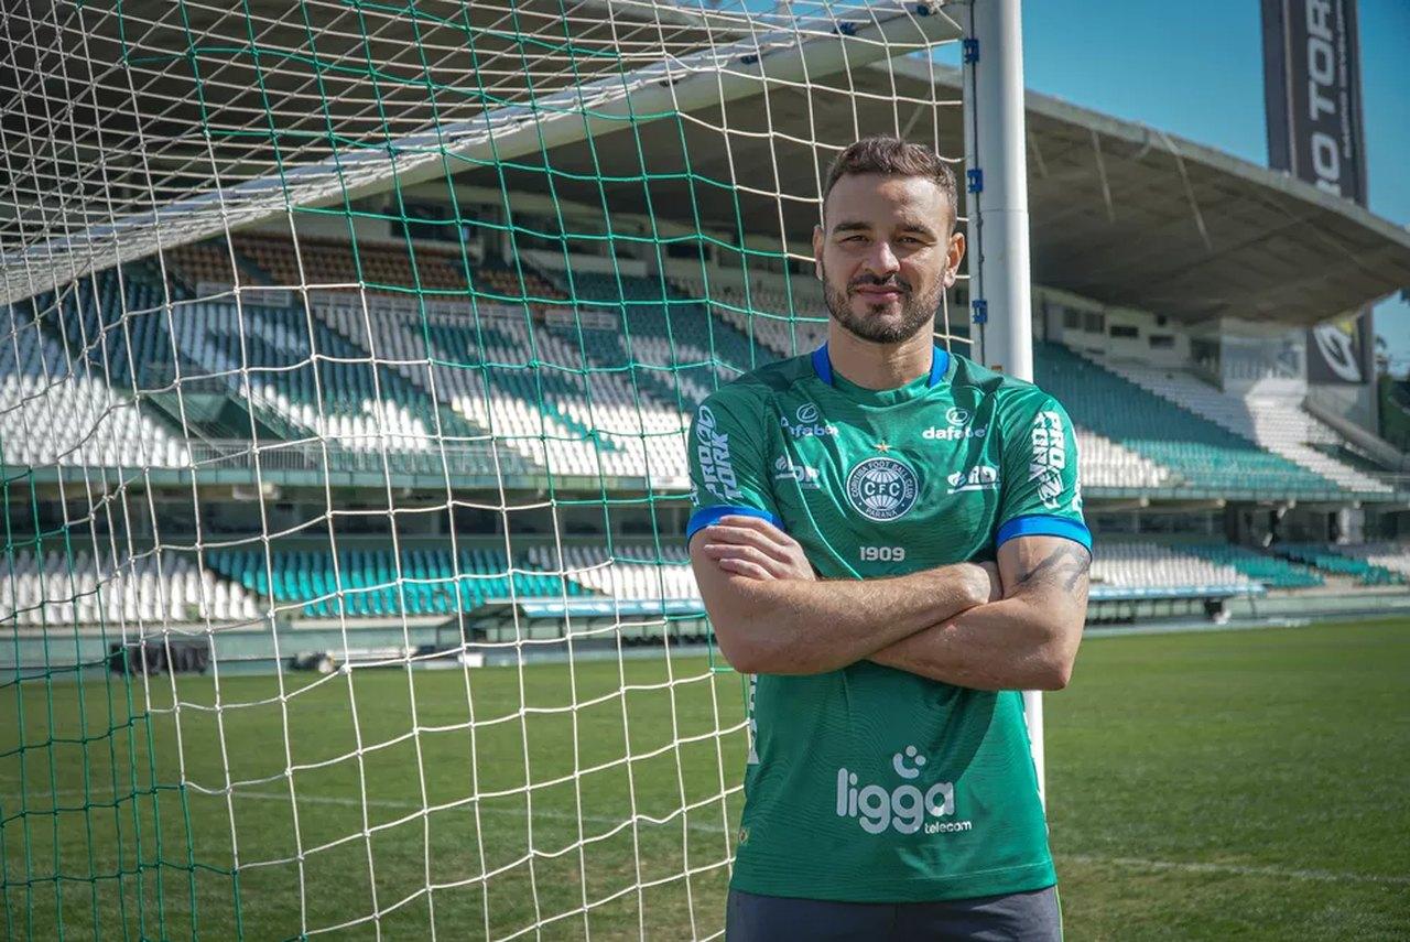
<path id="1" fill-rule="evenodd" d="M 257 251 L 257 243 L 276 248 Z M 258 259 L 237 262 L 241 278 L 248 272 L 271 282 L 293 278 L 289 240 L 241 238 L 240 248 Z M 185 465 L 185 443 L 137 409 L 142 402 L 159 406 L 164 395 L 172 395 L 162 384 L 172 384 L 179 372 L 188 419 L 192 403 L 216 391 L 285 437 L 412 453 L 498 439 L 502 453 L 517 460 L 509 463 L 509 472 L 537 468 L 556 475 L 626 477 L 649 468 L 657 481 L 677 484 L 685 477 L 681 436 L 695 402 L 740 369 L 811 348 L 818 338 L 804 331 L 825 323 L 792 317 L 802 290 L 795 289 L 790 305 L 780 278 L 757 279 L 747 310 L 743 295 L 737 305 L 715 300 L 735 289 L 712 285 L 715 303 L 708 310 L 716 316 L 706 317 L 705 303 L 697 300 L 705 296 L 704 283 L 688 279 L 663 288 L 650 278 L 575 274 L 568 285 L 565 275 L 554 283 L 558 276 L 551 272 L 486 267 L 474 268 L 471 281 L 477 292 L 488 288 L 505 303 L 477 296 L 474 319 L 458 309 L 464 302 L 451 298 L 433 307 L 379 290 L 314 292 L 307 310 L 302 305 L 182 300 L 189 293 L 183 285 L 217 281 L 220 259 L 228 261 L 219 247 L 199 250 L 173 255 L 171 295 L 178 300 L 169 307 L 157 272 L 130 265 L 123 278 L 109 271 L 62 298 L 11 309 L 14 343 L 0 355 L 0 391 L 6 402 L 21 406 L 0 415 L 7 460 L 14 460 L 10 443 L 24 443 L 31 451 L 44 444 L 21 433 L 25 422 L 76 430 L 92 427 L 106 410 L 102 422 L 113 423 L 113 432 L 75 446 L 72 463 Z M 347 244 L 329 241 L 306 254 L 305 264 L 324 251 L 350 255 Z M 399 286 L 409 267 L 400 264 L 393 252 L 371 267 L 364 281 L 369 288 Z M 447 261 L 437 283 L 454 286 L 453 274 Z M 329 283 L 358 279 L 345 265 L 324 275 Z M 458 285 L 464 289 L 465 281 Z M 581 302 L 577 312 L 567 288 Z M 821 298 L 807 303 L 821 303 Z M 59 317 L 31 317 L 31 310 L 49 309 Z M 550 316 L 554 309 L 558 316 Z M 41 323 L 66 343 L 41 333 L 35 326 Z M 1136 368 L 1112 369 L 1056 344 L 1038 344 L 1035 354 L 1039 385 L 1067 405 L 1079 426 L 1089 488 L 1259 488 L 1270 495 L 1385 489 L 1349 465 L 1303 454 L 1325 457 L 1311 444 L 1335 441 L 1330 430 L 1303 422 L 1307 416 L 1299 410 L 1275 410 L 1273 424 L 1292 429 L 1279 440 L 1266 422 L 1259 424 L 1262 417 L 1248 415 L 1246 405 L 1239 426 L 1230 405 L 1238 403 L 1190 386 L 1194 379 L 1160 385 Z M 111 385 L 70 377 L 70 364 L 107 377 Z M 138 398 L 113 388 L 123 385 L 137 385 Z M 378 410 L 376 403 L 384 408 Z M 42 416 L 32 412 L 41 405 Z M 51 413 L 80 417 L 65 424 Z M 107 450 L 104 440 L 113 443 Z M 1303 451 L 1290 450 L 1289 441 Z M 48 451 L 16 457 L 27 464 L 51 460 Z M 1277 551 L 1282 556 L 1220 544 L 1103 544 L 1093 584 L 1097 595 L 1194 597 L 1314 587 L 1324 582 L 1321 573 L 1362 584 L 1400 582 L 1410 573 L 1410 556 L 1399 546 L 1280 546 Z M 336 563 L 326 550 L 286 550 L 275 554 L 272 571 L 262 553 L 224 549 L 207 554 L 204 571 L 179 560 L 175 571 L 164 574 L 165 589 L 157 585 L 155 571 L 134 564 L 128 567 L 134 575 L 123 578 L 135 578 L 140 588 L 128 589 L 127 582 L 114 588 L 120 584 L 114 575 L 104 592 L 106 608 L 97 602 L 85 608 L 86 597 L 79 594 L 79 602 L 68 602 L 75 611 L 49 611 L 44 580 L 45 573 L 83 567 L 54 554 L 42 567 L 28 557 L 17 560 L 17 573 L 27 575 L 16 580 L 7 604 L 11 618 L 27 625 L 45 618 L 85 623 L 99 618 L 179 620 L 178 615 L 251 620 L 261 599 L 309 618 L 337 616 L 341 599 L 343 615 L 378 618 L 470 611 L 510 595 L 632 602 L 698 598 L 688 557 L 674 544 L 618 544 L 611 554 L 603 547 L 570 546 L 563 558 L 553 547 L 539 546 L 516 556 L 513 565 L 502 551 L 485 550 L 462 550 L 458 560 L 448 549 L 405 550 L 399 560 L 392 550 L 343 550 Z M 65 595 L 72 594 L 49 594 Z"/>

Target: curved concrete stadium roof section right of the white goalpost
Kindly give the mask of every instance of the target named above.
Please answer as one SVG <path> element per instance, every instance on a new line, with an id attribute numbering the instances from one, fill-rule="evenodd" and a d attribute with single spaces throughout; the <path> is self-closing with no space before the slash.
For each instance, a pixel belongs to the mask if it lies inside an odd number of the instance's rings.
<path id="1" fill-rule="evenodd" d="M 1410 286 L 1410 231 L 1287 173 L 1034 92 L 1028 138 L 1043 285 L 1297 324 Z"/>

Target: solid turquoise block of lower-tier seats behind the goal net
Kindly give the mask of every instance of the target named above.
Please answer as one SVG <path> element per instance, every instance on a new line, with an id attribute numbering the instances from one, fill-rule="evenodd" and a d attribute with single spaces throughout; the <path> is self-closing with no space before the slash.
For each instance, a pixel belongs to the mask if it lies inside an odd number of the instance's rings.
<path id="1" fill-rule="evenodd" d="M 298 605 L 306 616 L 375 618 L 446 615 L 471 611 L 491 599 L 587 595 L 584 585 L 532 571 L 533 554 L 516 558 L 503 550 L 448 547 L 392 550 L 281 550 L 266 564 L 262 550 L 214 550 L 209 564 L 244 591 Z"/>

